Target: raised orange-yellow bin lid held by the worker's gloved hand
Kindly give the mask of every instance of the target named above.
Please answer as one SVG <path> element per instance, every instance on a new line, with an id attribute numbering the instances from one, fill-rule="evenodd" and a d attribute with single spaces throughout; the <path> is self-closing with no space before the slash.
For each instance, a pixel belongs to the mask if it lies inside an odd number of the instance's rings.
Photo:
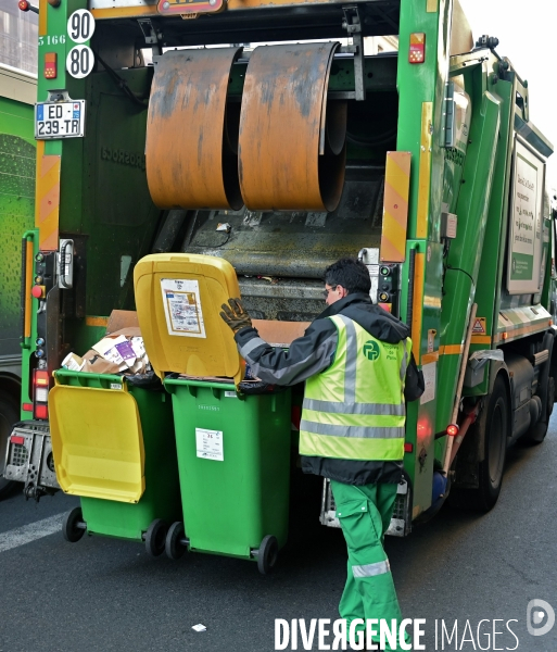
<path id="1" fill-rule="evenodd" d="M 238 385 L 242 359 L 221 304 L 240 297 L 232 265 L 220 258 L 157 253 L 134 269 L 136 308 L 145 351 L 159 377 L 228 376 Z"/>

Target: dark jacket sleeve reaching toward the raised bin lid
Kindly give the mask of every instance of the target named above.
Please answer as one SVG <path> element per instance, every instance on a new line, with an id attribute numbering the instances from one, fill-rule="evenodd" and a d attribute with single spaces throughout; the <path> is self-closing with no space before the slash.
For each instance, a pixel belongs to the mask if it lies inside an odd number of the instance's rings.
<path id="1" fill-rule="evenodd" d="M 316 319 L 288 350 L 271 347 L 255 328 L 242 328 L 235 339 L 253 376 L 273 385 L 295 385 L 331 365 L 338 334 L 331 319 Z"/>

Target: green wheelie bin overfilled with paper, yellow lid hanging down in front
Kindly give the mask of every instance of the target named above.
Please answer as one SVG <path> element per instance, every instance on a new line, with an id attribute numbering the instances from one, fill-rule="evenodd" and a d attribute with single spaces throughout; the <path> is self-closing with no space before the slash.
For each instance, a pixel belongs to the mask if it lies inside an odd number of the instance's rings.
<path id="1" fill-rule="evenodd" d="M 80 497 L 62 531 L 144 541 L 164 552 L 180 517 L 172 404 L 156 377 L 60 369 L 49 394 L 52 450 L 62 489 Z"/>

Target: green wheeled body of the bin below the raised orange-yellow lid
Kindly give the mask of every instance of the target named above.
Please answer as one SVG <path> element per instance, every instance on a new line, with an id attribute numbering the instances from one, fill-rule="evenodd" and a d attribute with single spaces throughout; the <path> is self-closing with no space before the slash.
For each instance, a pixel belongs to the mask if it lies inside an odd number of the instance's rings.
<path id="1" fill-rule="evenodd" d="M 256 560 L 268 573 L 288 537 L 290 389 L 251 396 L 232 384 L 180 377 L 164 385 L 173 397 L 185 524 L 170 526 L 166 553 Z"/>

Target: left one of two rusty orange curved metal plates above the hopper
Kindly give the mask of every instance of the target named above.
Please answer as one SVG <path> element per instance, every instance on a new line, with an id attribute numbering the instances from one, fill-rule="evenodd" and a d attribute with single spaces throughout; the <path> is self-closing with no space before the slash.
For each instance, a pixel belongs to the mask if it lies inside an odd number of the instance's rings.
<path id="1" fill-rule="evenodd" d="M 241 48 L 166 52 L 155 62 L 147 122 L 147 180 L 164 209 L 232 209 L 238 178 L 239 105 L 227 102 Z"/>

